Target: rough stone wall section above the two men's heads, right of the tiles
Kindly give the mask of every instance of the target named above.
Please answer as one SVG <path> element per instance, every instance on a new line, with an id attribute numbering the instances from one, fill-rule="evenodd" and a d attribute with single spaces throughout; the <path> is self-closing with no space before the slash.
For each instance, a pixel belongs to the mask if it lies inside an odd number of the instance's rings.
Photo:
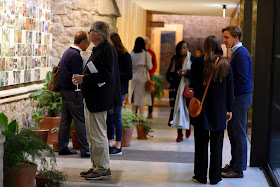
<path id="1" fill-rule="evenodd" d="M 54 0 L 53 2 L 53 50 L 54 64 L 57 64 L 64 51 L 74 43 L 78 31 L 90 30 L 94 21 L 105 21 L 112 32 L 116 32 L 119 9 L 114 0 Z M 88 52 L 83 55 L 89 55 Z"/>

